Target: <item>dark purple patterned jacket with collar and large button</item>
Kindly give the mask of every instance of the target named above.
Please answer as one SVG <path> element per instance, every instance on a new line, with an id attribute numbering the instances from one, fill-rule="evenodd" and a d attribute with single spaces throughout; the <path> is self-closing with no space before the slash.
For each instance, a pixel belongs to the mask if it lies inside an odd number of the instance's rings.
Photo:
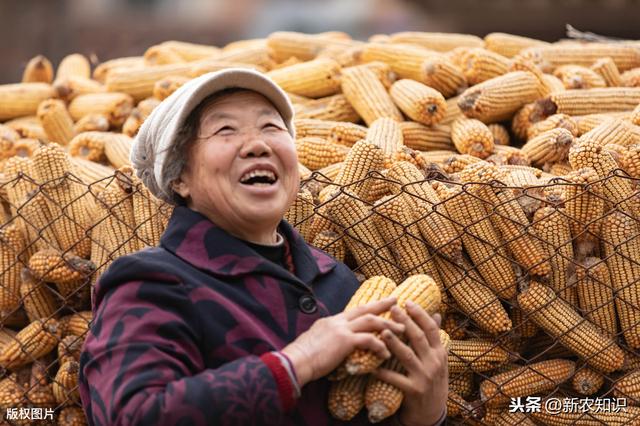
<path id="1" fill-rule="evenodd" d="M 326 379 L 294 400 L 268 355 L 341 312 L 358 282 L 286 221 L 279 231 L 293 273 L 186 207 L 159 247 L 113 262 L 80 360 L 90 424 L 342 424 Z M 364 411 L 351 424 L 366 423 Z"/>

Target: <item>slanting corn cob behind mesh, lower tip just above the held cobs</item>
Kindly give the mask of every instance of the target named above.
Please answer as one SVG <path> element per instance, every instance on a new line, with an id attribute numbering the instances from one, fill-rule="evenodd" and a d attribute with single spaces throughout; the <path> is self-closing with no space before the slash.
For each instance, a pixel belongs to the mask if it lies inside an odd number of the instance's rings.
<path id="1" fill-rule="evenodd" d="M 330 201 L 328 214 L 344 229 L 345 243 L 353 253 L 365 277 L 384 275 L 394 280 L 402 277 L 396 260 L 373 222 L 370 207 L 349 192 Z"/>

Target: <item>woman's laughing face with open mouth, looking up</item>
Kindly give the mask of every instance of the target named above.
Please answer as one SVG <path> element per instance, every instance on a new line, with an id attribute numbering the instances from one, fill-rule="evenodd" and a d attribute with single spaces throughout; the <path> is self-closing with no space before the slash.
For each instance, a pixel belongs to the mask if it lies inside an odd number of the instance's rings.
<path id="1" fill-rule="evenodd" d="M 175 190 L 188 206 L 241 238 L 274 234 L 298 191 L 295 144 L 259 93 L 223 96 L 203 111 Z"/>

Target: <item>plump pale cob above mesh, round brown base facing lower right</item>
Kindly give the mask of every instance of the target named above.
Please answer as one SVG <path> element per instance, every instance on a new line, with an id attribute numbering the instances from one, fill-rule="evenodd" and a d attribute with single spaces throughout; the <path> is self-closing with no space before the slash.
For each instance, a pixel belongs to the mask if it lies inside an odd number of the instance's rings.
<path id="1" fill-rule="evenodd" d="M 391 86 L 391 99 L 413 121 L 431 126 L 444 117 L 447 104 L 438 92 L 414 80 L 398 80 Z"/>

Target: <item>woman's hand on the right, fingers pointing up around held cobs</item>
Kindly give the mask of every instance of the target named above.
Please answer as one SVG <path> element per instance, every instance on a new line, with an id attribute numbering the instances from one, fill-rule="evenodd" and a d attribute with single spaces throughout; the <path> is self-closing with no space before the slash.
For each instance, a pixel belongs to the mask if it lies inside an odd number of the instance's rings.
<path id="1" fill-rule="evenodd" d="M 382 339 L 406 370 L 406 375 L 380 369 L 376 376 L 404 393 L 398 413 L 405 426 L 431 426 L 440 419 L 447 404 L 447 352 L 440 342 L 440 315 L 429 316 L 422 308 L 407 302 L 405 312 L 391 309 L 392 318 L 405 325 L 409 344 L 386 330 Z M 407 315 L 408 313 L 408 315 Z"/>

